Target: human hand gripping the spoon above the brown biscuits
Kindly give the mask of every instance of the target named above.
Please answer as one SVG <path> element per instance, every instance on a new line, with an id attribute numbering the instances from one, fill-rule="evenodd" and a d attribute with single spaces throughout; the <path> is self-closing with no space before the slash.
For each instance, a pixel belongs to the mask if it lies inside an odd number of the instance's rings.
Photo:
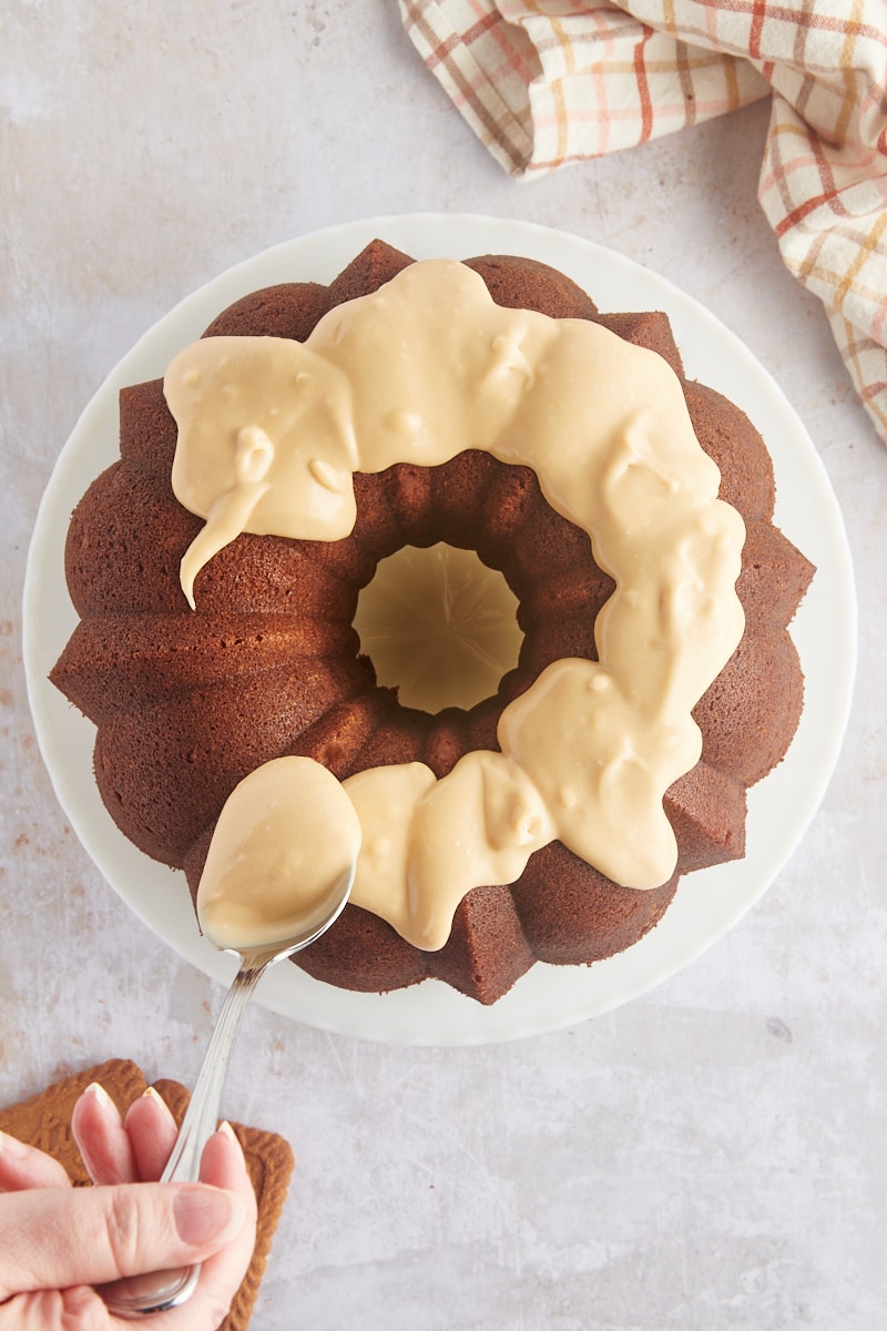
<path id="1" fill-rule="evenodd" d="M 72 1129 L 97 1187 L 72 1187 L 63 1166 L 0 1133 L 0 1331 L 105 1331 L 96 1286 L 124 1275 L 202 1263 L 188 1303 L 152 1331 L 214 1331 L 255 1243 L 255 1194 L 243 1153 L 223 1125 L 210 1137 L 199 1183 L 157 1183 L 176 1122 L 156 1091 L 121 1119 L 100 1086 L 77 1101 Z"/>

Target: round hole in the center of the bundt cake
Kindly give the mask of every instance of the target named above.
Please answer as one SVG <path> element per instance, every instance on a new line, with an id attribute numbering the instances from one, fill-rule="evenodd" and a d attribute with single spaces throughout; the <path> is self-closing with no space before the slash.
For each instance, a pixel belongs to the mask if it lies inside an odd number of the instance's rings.
<path id="1" fill-rule="evenodd" d="M 491 697 L 517 664 L 517 598 L 473 550 L 439 542 L 382 559 L 354 627 L 376 679 L 404 707 L 440 712 Z"/>

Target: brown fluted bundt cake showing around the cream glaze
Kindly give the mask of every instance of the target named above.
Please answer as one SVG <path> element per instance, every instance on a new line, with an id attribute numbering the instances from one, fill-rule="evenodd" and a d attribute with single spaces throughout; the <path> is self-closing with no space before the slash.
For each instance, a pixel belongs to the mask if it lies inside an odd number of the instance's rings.
<path id="1" fill-rule="evenodd" d="M 327 310 L 378 290 L 411 262 L 376 241 L 328 287 L 291 282 L 255 291 L 222 311 L 205 337 L 305 341 Z M 469 892 L 436 952 L 348 905 L 295 958 L 348 989 L 384 992 L 436 977 L 491 1004 L 537 960 L 588 964 L 630 946 L 661 918 L 682 873 L 743 855 L 746 788 L 782 759 L 801 715 L 802 673 L 787 624 L 813 568 L 773 526 L 763 441 L 735 406 L 684 379 L 664 314 L 602 314 L 567 277 L 529 260 L 465 262 L 500 306 L 592 321 L 658 353 L 721 470 L 721 498 L 747 534 L 737 583 L 745 632 L 694 709 L 702 757 L 665 797 L 678 847 L 668 882 L 618 886 L 553 841 L 516 882 Z M 548 666 L 597 659 L 594 619 L 614 583 L 586 534 L 548 504 L 529 467 L 473 449 L 435 467 L 395 463 L 355 474 L 347 539 L 237 536 L 198 574 L 191 611 L 180 562 L 202 523 L 170 486 L 177 427 L 162 382 L 125 389 L 120 413 L 121 461 L 72 516 L 65 567 L 80 624 L 51 677 L 97 725 L 94 772 L 110 816 L 146 855 L 184 869 L 193 893 L 222 804 L 262 763 L 305 755 L 344 780 L 420 761 L 443 777 L 467 752 L 499 748 L 503 709 Z M 520 603 L 524 642 L 495 696 L 432 716 L 376 684 L 352 619 L 379 560 L 438 542 L 475 550 L 501 571 Z"/>

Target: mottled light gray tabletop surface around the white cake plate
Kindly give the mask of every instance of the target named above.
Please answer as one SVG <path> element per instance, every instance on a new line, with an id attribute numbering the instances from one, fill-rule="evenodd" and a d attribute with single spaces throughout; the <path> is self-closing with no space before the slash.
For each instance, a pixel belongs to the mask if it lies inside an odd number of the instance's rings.
<path id="1" fill-rule="evenodd" d="M 0 1102 L 108 1057 L 191 1082 L 221 998 L 102 882 L 33 739 L 21 582 L 80 410 L 154 319 L 278 241 L 420 210 L 561 226 L 707 305 L 805 419 L 859 586 L 843 756 L 751 914 L 606 1017 L 414 1050 L 255 1008 L 225 1113 L 298 1165 L 254 1326 L 880 1328 L 887 455 L 757 205 L 767 105 L 516 185 L 394 0 L 1 8 Z"/>

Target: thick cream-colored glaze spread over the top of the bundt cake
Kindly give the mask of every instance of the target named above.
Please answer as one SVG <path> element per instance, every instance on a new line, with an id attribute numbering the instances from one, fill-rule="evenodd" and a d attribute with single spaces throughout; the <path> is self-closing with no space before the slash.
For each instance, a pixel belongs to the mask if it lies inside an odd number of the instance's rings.
<path id="1" fill-rule="evenodd" d="M 625 886 L 670 877 L 662 796 L 699 757 L 692 709 L 742 635 L 745 528 L 661 357 L 586 321 L 501 309 L 471 269 L 432 260 L 331 310 L 305 345 L 193 343 L 165 390 L 174 490 L 207 519 L 182 563 L 189 598 L 237 528 L 340 539 L 354 470 L 465 449 L 533 467 L 616 580 L 598 663 L 549 666 L 503 712 L 500 755 L 469 753 L 440 781 L 410 764 L 346 783 L 371 829 L 355 902 L 436 949 L 471 888 L 513 881 L 553 839 Z"/>

